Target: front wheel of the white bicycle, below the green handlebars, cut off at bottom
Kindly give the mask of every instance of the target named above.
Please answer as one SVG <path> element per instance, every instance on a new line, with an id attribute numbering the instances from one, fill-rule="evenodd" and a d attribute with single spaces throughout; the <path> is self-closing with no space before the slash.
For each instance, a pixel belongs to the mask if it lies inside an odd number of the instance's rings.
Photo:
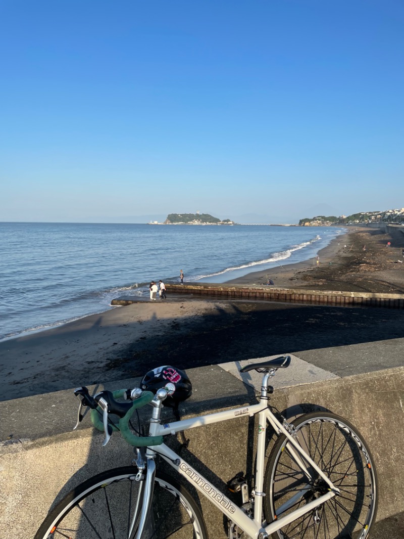
<path id="1" fill-rule="evenodd" d="M 34 539 L 128 539 L 139 489 L 136 474 L 136 467 L 127 466 L 84 481 L 51 510 Z M 156 474 L 152 507 L 154 520 L 149 519 L 142 539 L 207 539 L 199 507 L 169 475 Z"/>

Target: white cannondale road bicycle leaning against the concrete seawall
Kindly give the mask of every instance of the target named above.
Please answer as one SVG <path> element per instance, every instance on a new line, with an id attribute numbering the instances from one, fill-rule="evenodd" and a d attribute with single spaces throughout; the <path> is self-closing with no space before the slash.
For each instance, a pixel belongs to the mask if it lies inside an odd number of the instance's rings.
<path id="1" fill-rule="evenodd" d="M 365 539 L 378 503 L 371 454 L 349 421 L 333 413 L 310 413 L 292 423 L 276 417 L 279 414 L 269 404 L 273 388 L 268 381 L 278 368 L 289 364 L 290 356 L 282 356 L 241 369 L 263 373 L 257 404 L 165 424 L 160 420 L 161 410 L 172 395 L 172 384 L 158 389 L 156 395 L 134 389 L 101 391 L 93 398 L 86 388 L 76 390 L 81 400 L 78 423 L 82 406 L 90 406 L 94 425 L 105 431 L 103 445 L 112 430 L 119 430 L 136 448 L 137 458 L 132 466 L 100 473 L 74 488 L 51 510 L 35 539 L 207 539 L 199 500 L 183 486 L 185 481 L 226 515 L 229 539 L 266 539 L 270 535 L 280 539 Z M 126 400 L 117 400 L 122 397 Z M 130 428 L 130 419 L 147 404 L 152 406 L 149 436 L 140 436 Z M 229 489 L 237 495 L 220 492 L 163 443 L 164 436 L 255 414 L 255 477 L 252 485 L 242 475 L 233 478 Z M 119 421 L 114 423 L 112 417 Z M 278 438 L 264 467 L 268 424 Z M 182 476 L 182 483 L 156 471 L 157 455 Z M 235 496 L 240 497 L 238 502 Z"/>

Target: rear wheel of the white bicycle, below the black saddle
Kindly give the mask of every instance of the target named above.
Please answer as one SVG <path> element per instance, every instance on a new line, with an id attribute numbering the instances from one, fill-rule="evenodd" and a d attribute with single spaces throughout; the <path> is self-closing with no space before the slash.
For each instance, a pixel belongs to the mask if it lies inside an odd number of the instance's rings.
<path id="1" fill-rule="evenodd" d="M 377 476 L 366 443 L 345 419 L 317 412 L 292 423 L 303 450 L 340 490 L 316 509 L 299 517 L 274 537 L 281 539 L 365 539 L 377 512 Z M 311 479 L 288 451 L 281 436 L 271 451 L 265 473 L 267 521 L 280 519 L 321 494 L 328 485 L 308 465 Z"/>

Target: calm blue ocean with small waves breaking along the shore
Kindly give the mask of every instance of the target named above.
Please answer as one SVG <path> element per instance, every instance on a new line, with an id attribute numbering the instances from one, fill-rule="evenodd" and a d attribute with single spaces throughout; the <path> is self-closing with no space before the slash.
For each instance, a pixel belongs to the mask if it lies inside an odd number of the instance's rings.
<path id="1" fill-rule="evenodd" d="M 0 223 L 0 340 L 100 313 L 149 282 L 225 282 L 314 258 L 338 227 Z"/>

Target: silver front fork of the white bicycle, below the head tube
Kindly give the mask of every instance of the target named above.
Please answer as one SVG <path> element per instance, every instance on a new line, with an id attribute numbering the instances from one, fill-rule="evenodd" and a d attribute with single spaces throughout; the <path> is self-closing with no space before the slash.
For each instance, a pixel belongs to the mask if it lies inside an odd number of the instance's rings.
<path id="1" fill-rule="evenodd" d="M 144 467 L 143 467 L 144 471 Z M 139 481 L 139 493 L 136 500 L 136 507 L 133 515 L 132 522 L 130 524 L 128 539 L 141 539 L 143 531 L 147 525 L 150 509 L 152 506 L 154 482 L 156 476 L 156 463 L 154 459 L 147 459 L 146 475 L 142 475 L 142 470 L 136 476 L 136 481 Z M 134 535 L 136 522 L 139 522 L 136 536 Z M 154 526 L 154 519 L 150 519 L 151 526 Z M 152 535 L 152 534 L 151 534 Z"/>

